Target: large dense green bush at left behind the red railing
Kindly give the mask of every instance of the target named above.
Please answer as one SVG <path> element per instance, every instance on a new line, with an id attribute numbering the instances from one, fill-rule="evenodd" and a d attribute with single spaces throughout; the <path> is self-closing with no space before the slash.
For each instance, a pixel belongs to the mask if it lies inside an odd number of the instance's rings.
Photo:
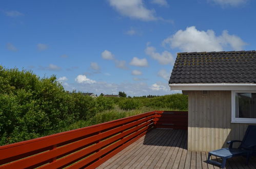
<path id="1" fill-rule="evenodd" d="M 67 93 L 56 77 L 0 67 L 0 144 L 32 139 L 89 120 L 98 112 L 95 99 Z"/>

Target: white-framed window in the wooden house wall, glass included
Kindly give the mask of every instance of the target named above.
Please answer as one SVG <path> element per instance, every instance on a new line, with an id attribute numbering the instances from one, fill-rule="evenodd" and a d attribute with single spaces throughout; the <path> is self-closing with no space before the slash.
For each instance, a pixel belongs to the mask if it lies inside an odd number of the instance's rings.
<path id="1" fill-rule="evenodd" d="M 256 123 L 256 91 L 232 91 L 231 114 L 231 122 Z"/>

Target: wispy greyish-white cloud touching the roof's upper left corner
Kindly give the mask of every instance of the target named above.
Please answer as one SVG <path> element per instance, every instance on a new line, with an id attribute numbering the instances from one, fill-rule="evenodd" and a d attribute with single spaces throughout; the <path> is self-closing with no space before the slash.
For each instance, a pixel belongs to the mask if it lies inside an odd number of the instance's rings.
<path id="1" fill-rule="evenodd" d="M 154 47 L 148 46 L 145 49 L 145 52 L 147 55 L 152 57 L 153 59 L 157 60 L 161 65 L 168 65 L 168 64 L 173 64 L 174 59 L 172 57 L 172 54 L 168 51 L 164 51 L 162 53 L 157 53 L 155 52 Z"/>

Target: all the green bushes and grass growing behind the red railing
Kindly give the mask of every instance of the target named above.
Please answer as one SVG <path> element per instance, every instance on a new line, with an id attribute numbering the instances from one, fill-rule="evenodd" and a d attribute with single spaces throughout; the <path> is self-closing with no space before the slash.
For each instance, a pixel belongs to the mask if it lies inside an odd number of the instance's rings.
<path id="1" fill-rule="evenodd" d="M 152 110 L 187 110 L 187 96 L 92 98 L 67 92 L 53 75 L 0 66 L 0 145 Z"/>

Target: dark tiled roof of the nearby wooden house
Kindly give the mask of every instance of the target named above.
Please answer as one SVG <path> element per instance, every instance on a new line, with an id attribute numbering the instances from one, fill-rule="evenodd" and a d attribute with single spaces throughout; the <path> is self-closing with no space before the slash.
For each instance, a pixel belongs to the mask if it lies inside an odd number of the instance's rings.
<path id="1" fill-rule="evenodd" d="M 169 83 L 256 83 L 256 51 L 178 53 Z"/>

